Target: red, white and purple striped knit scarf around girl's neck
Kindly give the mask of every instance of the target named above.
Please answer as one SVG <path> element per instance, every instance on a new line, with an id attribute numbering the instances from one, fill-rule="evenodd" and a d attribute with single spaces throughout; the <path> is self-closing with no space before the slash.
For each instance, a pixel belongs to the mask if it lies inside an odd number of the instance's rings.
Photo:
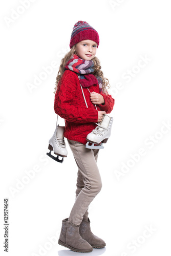
<path id="1" fill-rule="evenodd" d="M 73 54 L 71 59 L 66 63 L 65 70 L 69 69 L 75 73 L 79 73 L 79 81 L 82 87 L 93 86 L 99 84 L 100 91 L 102 91 L 102 79 L 100 76 L 95 77 L 91 74 L 94 69 L 93 60 L 81 59 L 78 55 Z"/>

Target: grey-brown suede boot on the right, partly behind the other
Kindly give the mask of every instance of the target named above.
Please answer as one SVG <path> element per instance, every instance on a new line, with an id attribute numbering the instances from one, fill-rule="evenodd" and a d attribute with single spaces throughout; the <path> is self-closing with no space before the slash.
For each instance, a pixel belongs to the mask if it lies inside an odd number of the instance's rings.
<path id="1" fill-rule="evenodd" d="M 86 220 L 82 220 L 80 226 L 79 226 L 79 233 L 81 235 L 81 237 L 88 241 L 89 244 L 91 244 L 91 246 L 93 248 L 103 248 L 105 246 L 105 242 L 101 239 L 96 237 L 90 228 L 90 220 L 88 218 L 88 221 Z"/>

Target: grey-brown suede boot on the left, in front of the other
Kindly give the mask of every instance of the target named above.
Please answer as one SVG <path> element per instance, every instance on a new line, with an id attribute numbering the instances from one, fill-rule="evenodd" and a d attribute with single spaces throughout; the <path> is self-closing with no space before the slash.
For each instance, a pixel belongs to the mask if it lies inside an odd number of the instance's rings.
<path id="1" fill-rule="evenodd" d="M 80 236 L 79 226 L 68 221 L 68 218 L 62 221 L 58 244 L 76 252 L 91 252 L 93 250 L 93 247 Z"/>

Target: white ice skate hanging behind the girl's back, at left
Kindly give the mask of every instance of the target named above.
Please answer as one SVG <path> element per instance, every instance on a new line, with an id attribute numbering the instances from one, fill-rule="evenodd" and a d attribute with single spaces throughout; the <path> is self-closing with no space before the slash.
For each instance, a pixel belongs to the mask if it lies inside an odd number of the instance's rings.
<path id="1" fill-rule="evenodd" d="M 65 129 L 65 126 L 56 126 L 55 132 L 49 140 L 49 146 L 48 149 L 50 150 L 47 155 L 54 159 L 55 161 L 62 163 L 63 162 L 63 157 L 67 157 L 67 148 L 66 148 L 66 143 L 63 137 L 63 131 Z M 51 155 L 51 151 L 54 152 L 56 157 Z M 59 156 L 62 157 L 62 159 L 59 159 Z"/>

